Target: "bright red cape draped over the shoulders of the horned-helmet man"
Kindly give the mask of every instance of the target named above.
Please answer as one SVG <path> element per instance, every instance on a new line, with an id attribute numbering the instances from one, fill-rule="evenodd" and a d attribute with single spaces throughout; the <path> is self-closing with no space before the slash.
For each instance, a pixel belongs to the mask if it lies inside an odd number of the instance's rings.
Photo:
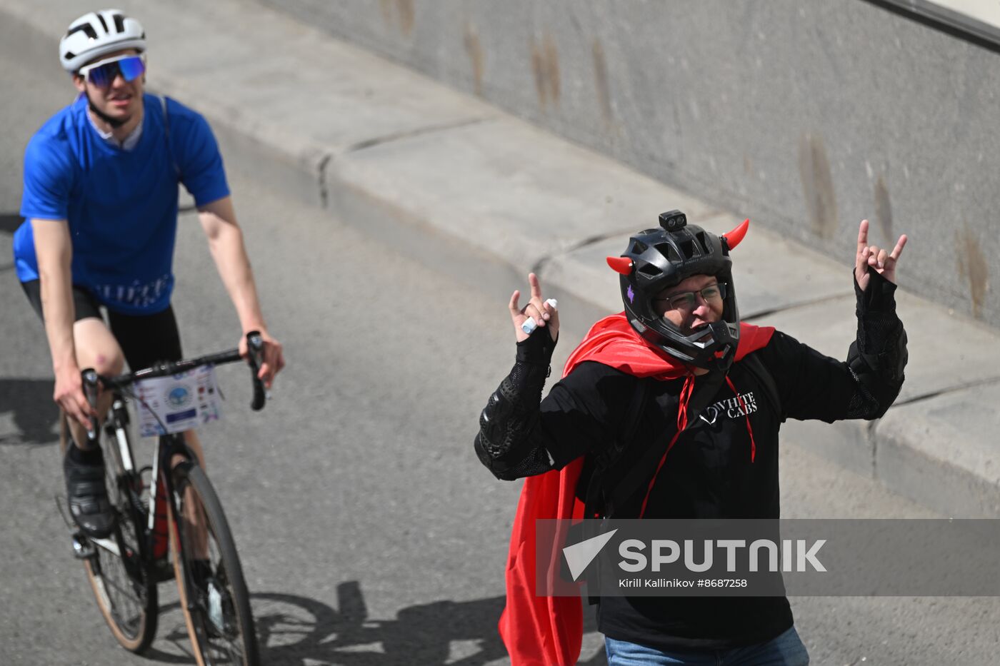
<path id="1" fill-rule="evenodd" d="M 774 329 L 740 325 L 736 360 L 763 348 Z M 636 377 L 679 379 L 688 369 L 665 352 L 643 340 L 624 312 L 605 317 L 584 337 L 566 360 L 563 377 L 584 361 L 597 361 Z M 500 636 L 512 666 L 572 666 L 580 656 L 583 639 L 583 605 L 580 597 L 535 595 L 535 521 L 583 518 L 583 503 L 576 498 L 576 484 L 583 457 L 558 471 L 528 477 L 511 530 L 507 554 L 507 606 L 500 616 Z M 559 549 L 552 549 L 558 553 Z M 557 572 L 559 562 L 549 563 Z"/>

